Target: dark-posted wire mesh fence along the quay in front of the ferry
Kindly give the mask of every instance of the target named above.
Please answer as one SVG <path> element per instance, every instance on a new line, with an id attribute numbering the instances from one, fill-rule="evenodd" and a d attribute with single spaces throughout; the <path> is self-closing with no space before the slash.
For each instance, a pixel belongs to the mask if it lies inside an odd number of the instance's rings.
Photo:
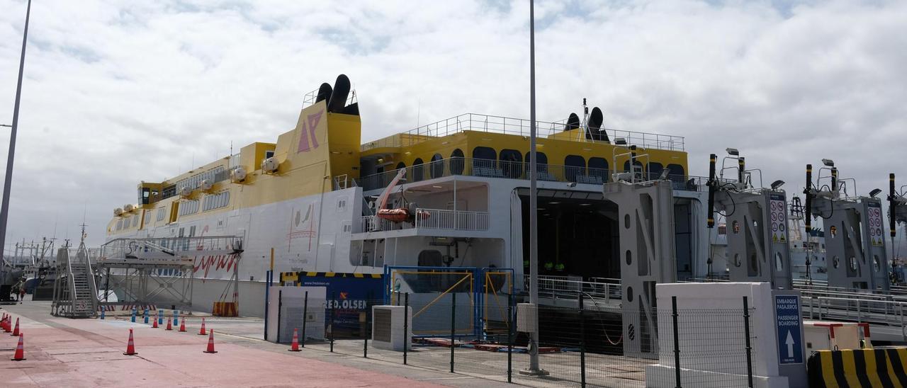
<path id="1" fill-rule="evenodd" d="M 515 327 L 513 296 L 506 297 L 505 312 L 494 319 L 483 318 L 479 330 L 468 293 L 439 294 L 430 308 L 422 303 L 413 306 L 413 298 L 406 293 L 391 297 L 391 305 L 405 314 L 402 321 L 375 316 L 372 307 L 385 306 L 383 299 L 366 300 L 365 309 L 356 306 L 357 322 L 349 319 L 352 309 L 328 303 L 321 315 L 326 320 L 325 340 L 300 338 L 300 345 L 538 387 L 753 386 L 755 354 L 750 344 L 755 336 L 749 322 L 754 309 L 743 300 L 740 308 L 661 307 L 658 333 L 653 334 L 658 338 L 651 339 L 657 346 L 646 352 L 626 350 L 632 346 L 625 344 L 623 317 L 638 312 L 582 300 L 562 301 L 573 306 L 541 306 L 538 365 L 531 370 L 530 337 Z M 412 333 L 412 345 L 405 349 L 372 343 L 373 337 L 405 338 L 406 333 Z"/>

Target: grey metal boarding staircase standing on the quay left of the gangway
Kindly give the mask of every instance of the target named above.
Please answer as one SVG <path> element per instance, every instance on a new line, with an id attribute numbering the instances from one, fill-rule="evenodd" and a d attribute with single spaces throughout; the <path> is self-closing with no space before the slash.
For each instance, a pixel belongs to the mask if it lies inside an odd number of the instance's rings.
<path id="1" fill-rule="evenodd" d="M 54 281 L 55 316 L 92 318 L 97 316 L 98 291 L 88 249 L 61 247 L 57 251 L 57 278 Z"/>

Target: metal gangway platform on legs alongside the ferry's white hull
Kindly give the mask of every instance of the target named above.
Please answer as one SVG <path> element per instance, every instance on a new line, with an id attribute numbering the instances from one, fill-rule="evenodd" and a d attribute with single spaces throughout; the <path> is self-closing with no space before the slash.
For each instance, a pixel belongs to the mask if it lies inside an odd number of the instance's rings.
<path id="1" fill-rule="evenodd" d="M 237 298 L 242 251 L 243 238 L 235 236 L 113 239 L 101 247 L 94 266 L 102 278 L 100 306 L 190 307 L 196 257 L 219 255 L 237 260 L 228 286 L 232 290 L 224 292 Z"/>

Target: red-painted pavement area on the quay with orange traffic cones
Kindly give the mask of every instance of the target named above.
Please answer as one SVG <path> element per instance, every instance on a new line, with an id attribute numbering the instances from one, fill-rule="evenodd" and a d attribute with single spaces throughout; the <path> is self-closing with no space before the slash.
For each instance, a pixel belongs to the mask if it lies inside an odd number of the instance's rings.
<path id="1" fill-rule="evenodd" d="M 439 386 L 250 348 L 268 344 L 219 335 L 215 325 L 209 328 L 215 329 L 219 353 L 204 354 L 208 337 L 191 330 L 167 332 L 112 320 L 61 318 L 53 322 L 65 326 L 50 327 L 23 318 L 27 361 L 8 361 L 18 339 L 0 335 L 0 386 Z M 122 354 L 129 327 L 134 329 L 138 355 Z"/>

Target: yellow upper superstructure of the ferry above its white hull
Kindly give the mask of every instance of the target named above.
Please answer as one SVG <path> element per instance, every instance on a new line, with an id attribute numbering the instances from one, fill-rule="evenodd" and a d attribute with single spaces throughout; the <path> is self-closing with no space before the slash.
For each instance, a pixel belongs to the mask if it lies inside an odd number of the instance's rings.
<path id="1" fill-rule="evenodd" d="M 114 212 L 108 235 L 317 195 L 353 182 L 376 189 L 385 180 L 369 179 L 400 168 L 415 180 L 527 176 L 528 121 L 468 114 L 363 144 L 357 111 L 328 111 L 326 100 L 314 102 L 277 142 L 251 143 L 237 155 L 172 179 L 142 181 L 139 203 Z M 539 128 L 540 179 L 600 184 L 615 170 L 650 175 L 668 170 L 677 177 L 688 171 L 679 137 L 612 131 L 610 141 L 602 141 L 590 140 L 581 128 L 565 131 L 562 123 L 540 122 Z M 631 155 L 636 169 L 629 169 Z"/>

